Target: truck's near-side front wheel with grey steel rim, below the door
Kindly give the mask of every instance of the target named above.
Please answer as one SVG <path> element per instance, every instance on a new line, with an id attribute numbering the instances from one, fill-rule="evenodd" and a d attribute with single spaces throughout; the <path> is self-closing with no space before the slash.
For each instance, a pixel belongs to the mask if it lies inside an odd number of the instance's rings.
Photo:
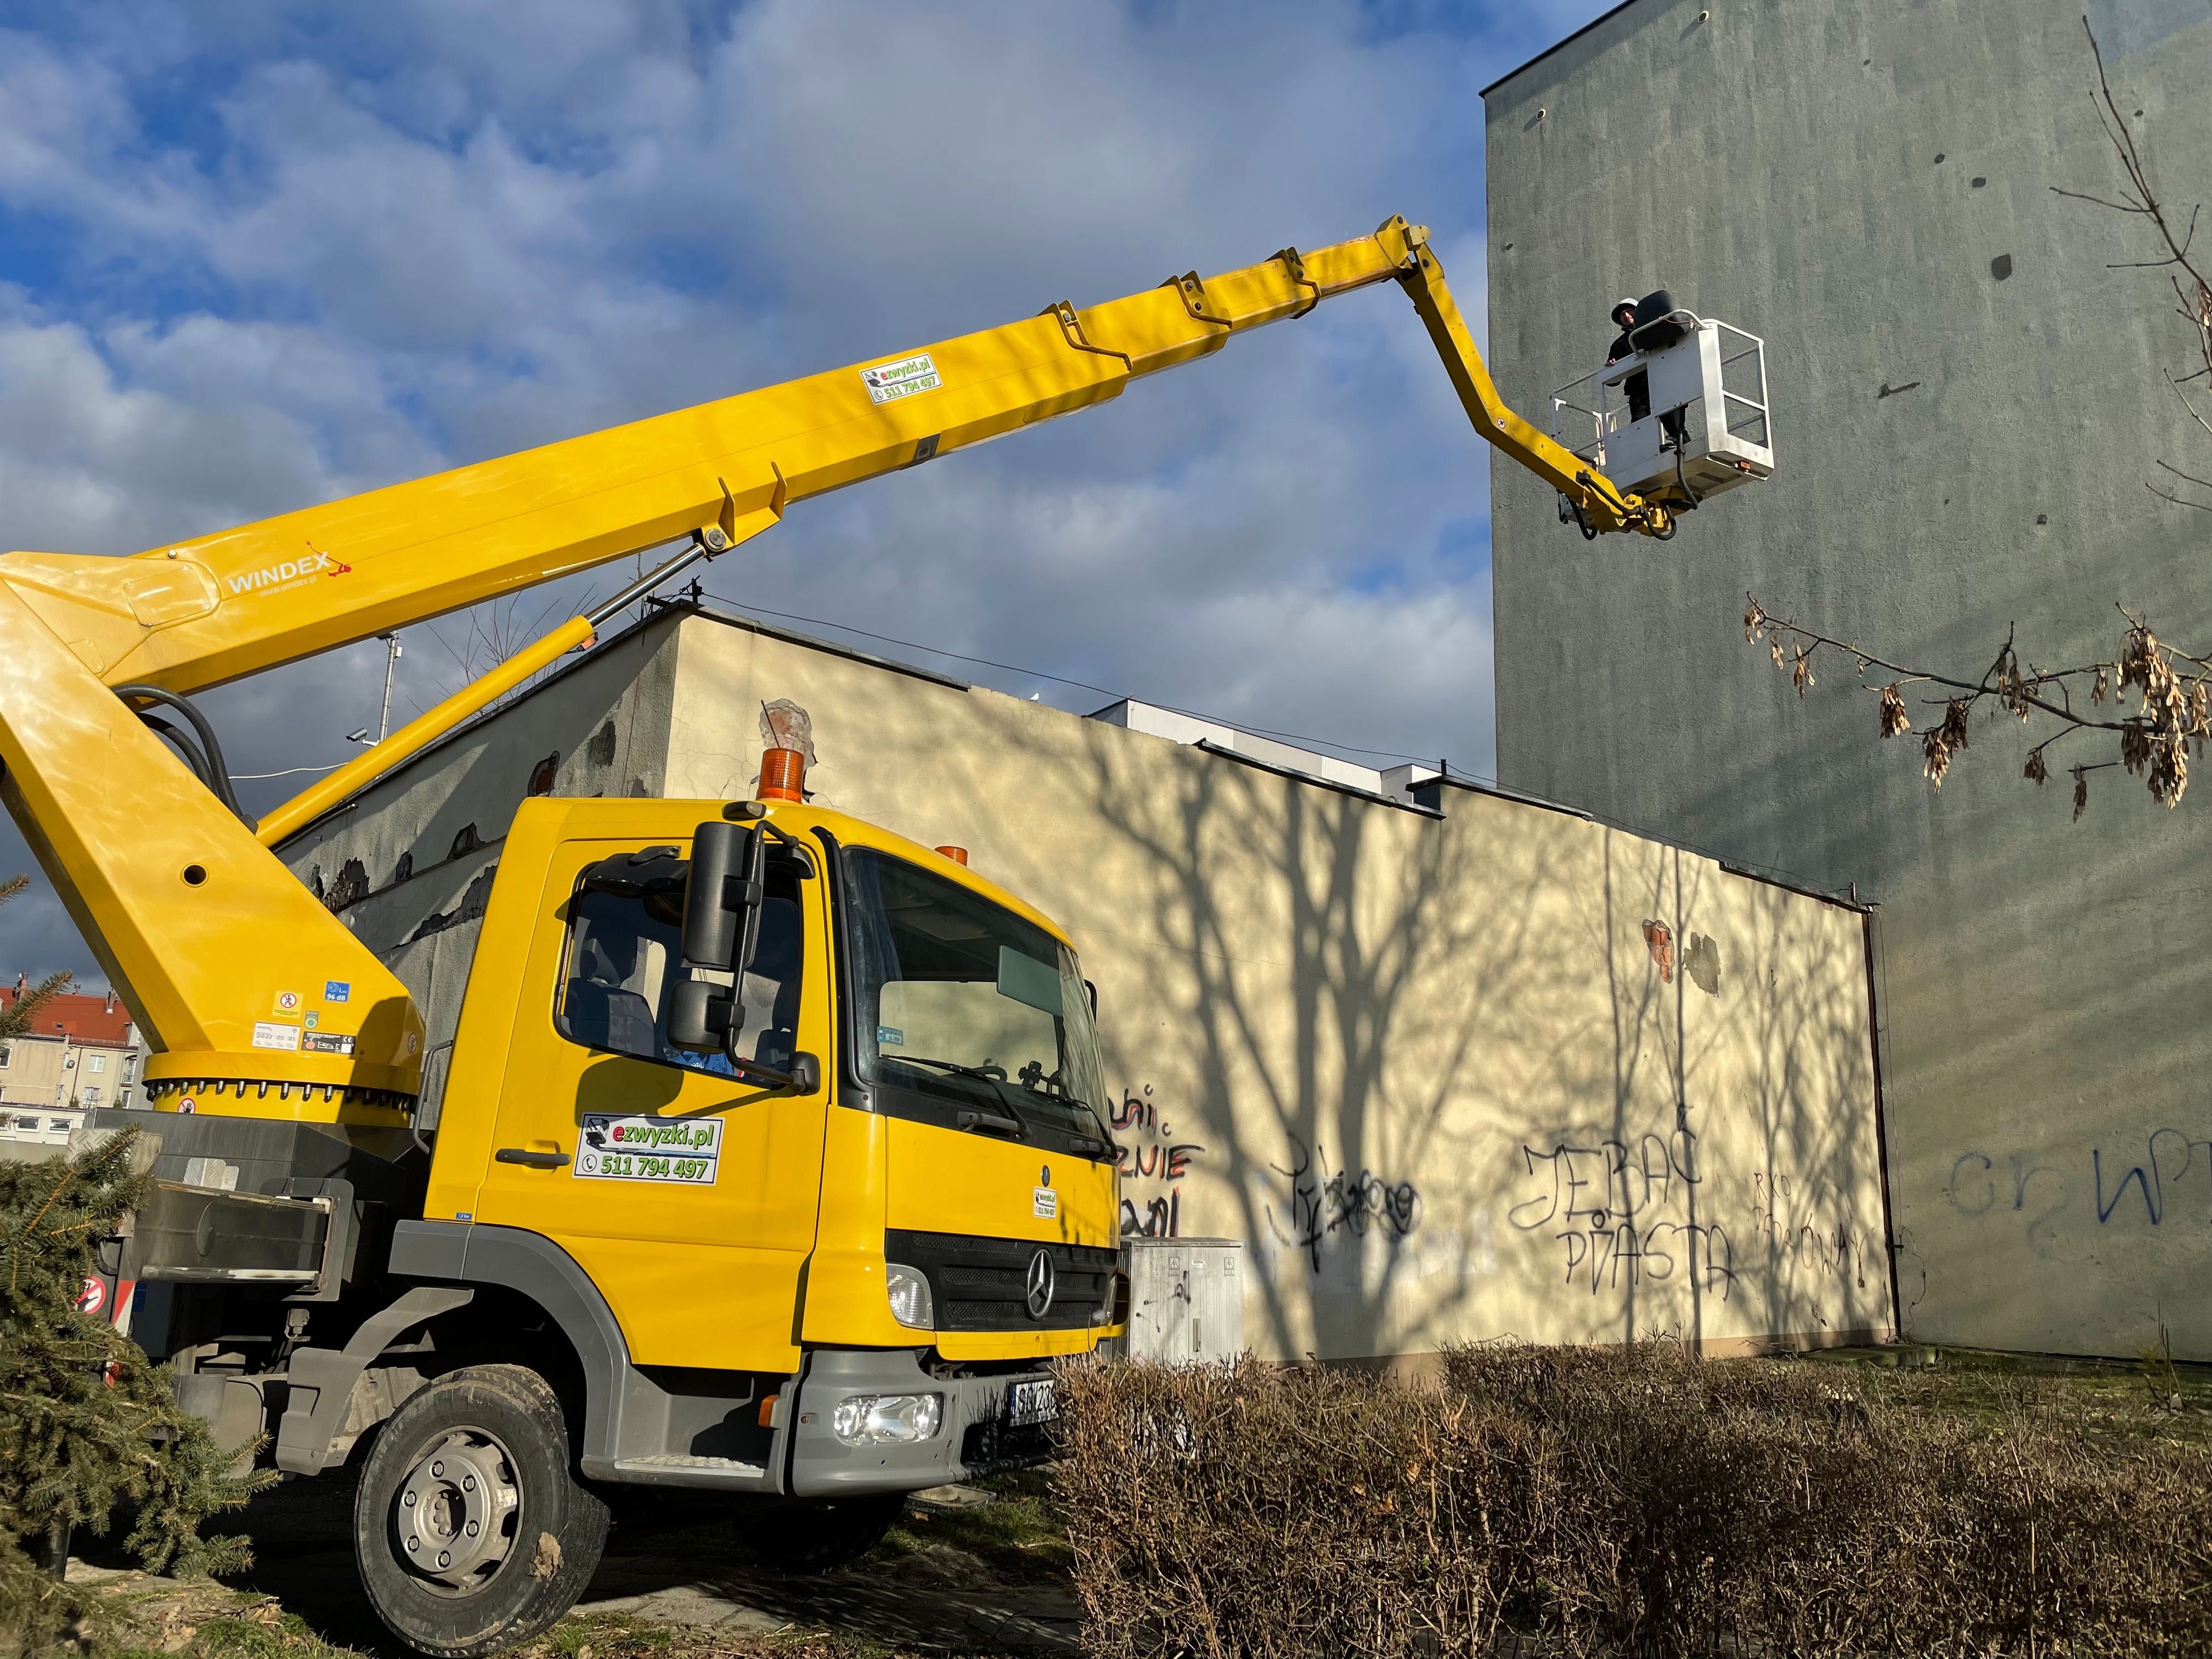
<path id="1" fill-rule="evenodd" d="M 560 1400 L 520 1365 L 440 1376 L 385 1422 L 354 1495 L 361 1586 L 400 1641 L 473 1659 L 584 1593 L 606 1504 L 568 1471 Z"/>

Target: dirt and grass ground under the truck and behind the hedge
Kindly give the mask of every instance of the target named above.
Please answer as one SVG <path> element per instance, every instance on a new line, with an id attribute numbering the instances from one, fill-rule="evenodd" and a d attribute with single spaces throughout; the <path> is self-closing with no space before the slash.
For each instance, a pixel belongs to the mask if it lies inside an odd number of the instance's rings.
<path id="1" fill-rule="evenodd" d="M 1734 1360 L 1759 1365 L 1765 1360 Z M 1896 1371 L 1913 1405 L 1989 1420 L 2055 1416 L 2099 1440 L 2212 1444 L 2212 1367 L 2062 1360 L 1916 1345 L 1792 1360 Z M 221 1531 L 254 1540 L 228 1586 L 75 1566 L 115 1617 L 93 1644 L 115 1659 L 400 1659 L 352 1559 L 352 1486 L 294 1480 Z M 526 1659 L 922 1659 L 1073 1655 L 1073 1557 L 1051 1480 L 1004 1475 L 909 1509 L 869 1557 L 823 1577 L 754 1562 L 710 1504 L 650 1493 L 617 1511 L 577 1610 Z"/>

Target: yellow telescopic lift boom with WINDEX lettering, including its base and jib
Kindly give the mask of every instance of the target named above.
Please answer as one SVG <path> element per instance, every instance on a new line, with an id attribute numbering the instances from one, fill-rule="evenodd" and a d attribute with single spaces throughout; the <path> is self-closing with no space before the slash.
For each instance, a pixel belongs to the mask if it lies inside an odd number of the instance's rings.
<path id="1" fill-rule="evenodd" d="M 330 1115 L 307 1099 L 343 1095 L 341 1115 L 400 1121 L 420 1075 L 420 1020 L 405 989 L 261 843 L 330 805 L 330 790 L 389 768 L 405 745 L 380 745 L 281 807 L 257 841 L 111 686 L 204 690 L 686 535 L 714 555 L 792 502 L 1104 403 L 1137 376 L 1383 281 L 1413 299 L 1475 431 L 1597 529 L 1668 531 L 1663 507 L 1624 495 L 1504 407 L 1427 232 L 1389 219 L 1318 252 L 1285 248 L 1245 270 L 1190 272 L 1082 310 L 1057 303 L 902 358 L 126 560 L 0 555 L 0 799 L 164 1051 L 148 1079 L 228 1082 L 241 1099 L 252 1086 L 252 1110 L 288 1117 Z M 573 644 L 588 644 L 586 628 L 568 624 Z M 571 639 L 544 644 L 557 655 Z M 482 701 L 456 699 L 451 719 Z M 285 1000 L 323 984 L 349 987 L 345 1015 L 325 1018 L 305 1044 Z M 226 1097 L 221 1108 L 243 1106 Z"/>

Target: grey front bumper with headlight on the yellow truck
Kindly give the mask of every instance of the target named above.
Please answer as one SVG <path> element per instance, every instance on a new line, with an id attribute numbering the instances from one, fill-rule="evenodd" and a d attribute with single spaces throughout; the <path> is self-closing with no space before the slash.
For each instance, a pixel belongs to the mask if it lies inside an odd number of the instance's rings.
<path id="1" fill-rule="evenodd" d="M 814 1349 L 796 1398 L 785 1405 L 792 1433 L 792 1495 L 920 1491 L 993 1469 L 1044 1462 L 1051 1436 L 1037 1427 L 1006 1425 L 1006 1396 L 1015 1383 L 1048 1371 L 1006 1376 L 929 1376 L 911 1349 Z M 942 1394 L 945 1416 L 929 1440 L 847 1444 L 832 1427 L 836 1407 L 856 1394 Z"/>

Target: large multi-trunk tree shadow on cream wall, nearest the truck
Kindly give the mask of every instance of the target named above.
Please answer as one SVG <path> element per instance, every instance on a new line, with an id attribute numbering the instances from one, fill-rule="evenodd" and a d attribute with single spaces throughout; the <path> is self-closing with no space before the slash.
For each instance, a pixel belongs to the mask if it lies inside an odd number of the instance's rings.
<path id="1" fill-rule="evenodd" d="M 1146 891 L 1084 931 L 1181 969 L 1150 973 L 1170 1053 L 1117 1042 L 1108 991 L 1108 1055 L 1197 1084 L 1267 1321 L 1248 1345 L 1363 1358 L 1464 1334 L 1493 1245 L 1451 1201 L 1475 1150 L 1453 1106 L 1559 989 L 1528 949 L 1551 854 L 1504 878 L 1431 818 L 1219 757 L 1133 763 L 1119 732 L 1033 754 L 1144 863 Z M 1409 1301 L 1409 1281 L 1433 1283 Z"/>

